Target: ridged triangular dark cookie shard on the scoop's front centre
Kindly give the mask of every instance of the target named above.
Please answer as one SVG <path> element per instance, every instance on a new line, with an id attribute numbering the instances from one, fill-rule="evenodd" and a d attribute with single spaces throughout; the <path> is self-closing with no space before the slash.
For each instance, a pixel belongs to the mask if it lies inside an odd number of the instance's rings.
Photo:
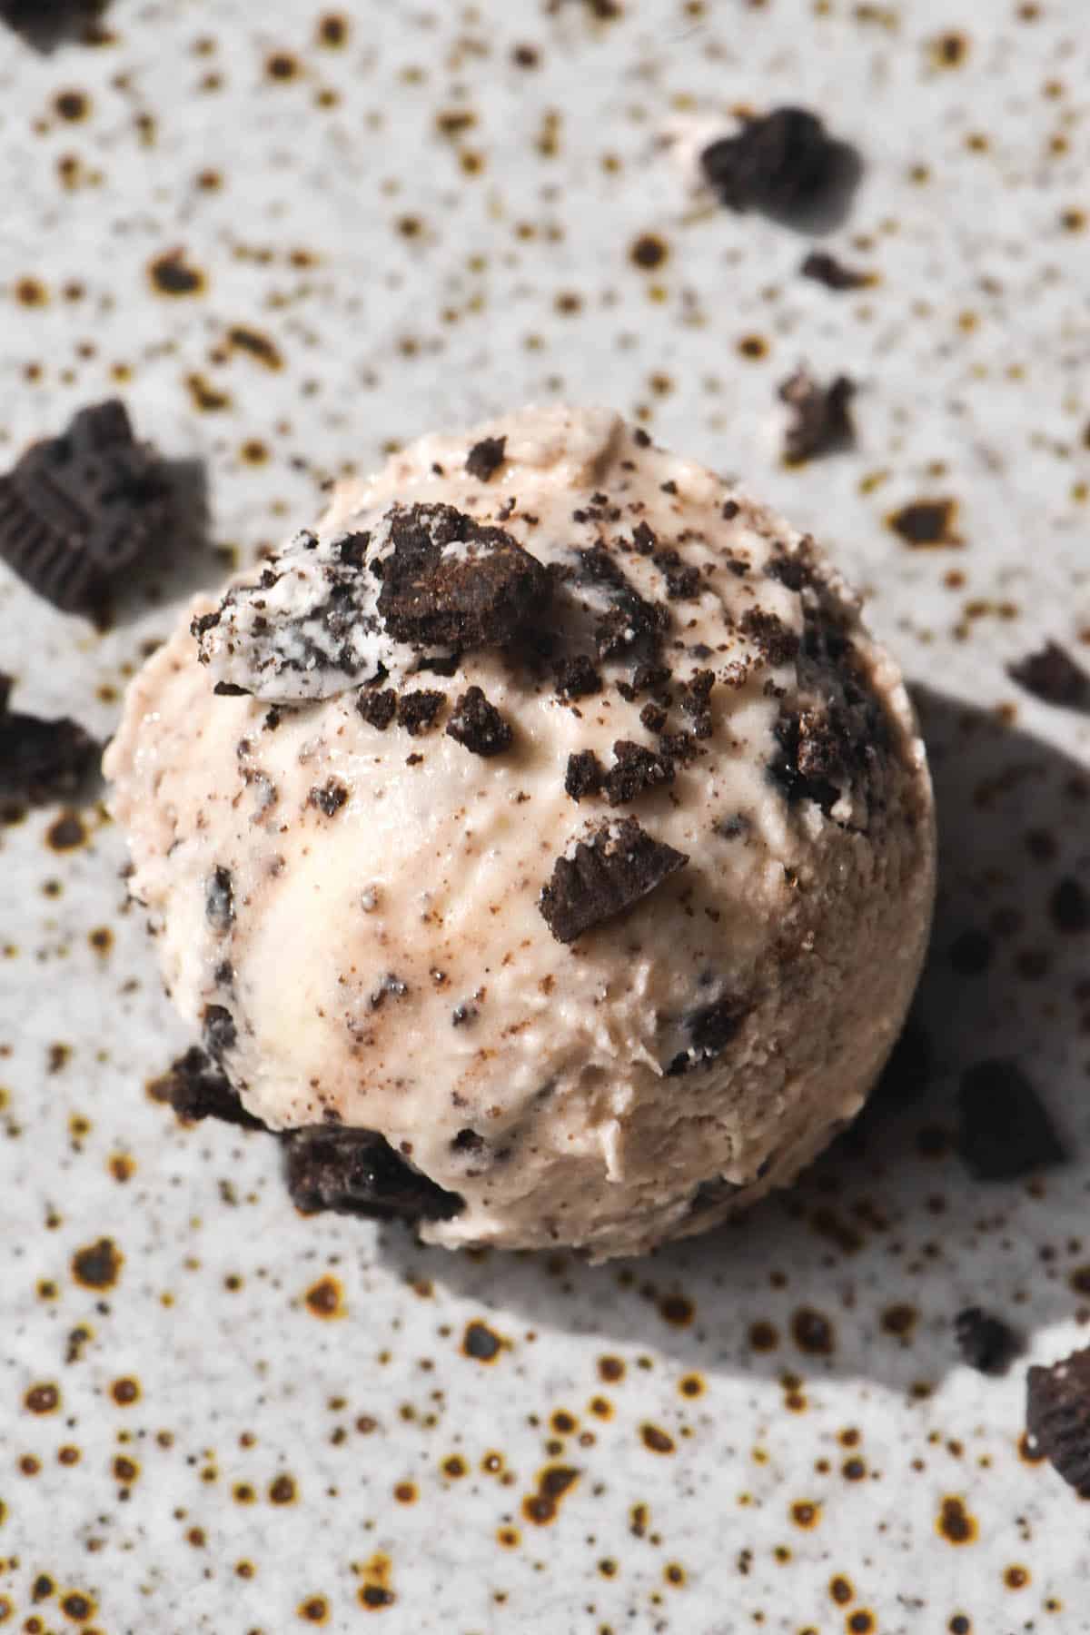
<path id="1" fill-rule="evenodd" d="M 559 857 L 539 898 L 541 914 L 557 942 L 575 942 L 592 925 L 623 914 L 688 857 L 652 839 L 636 818 L 606 822 L 572 857 Z"/>

